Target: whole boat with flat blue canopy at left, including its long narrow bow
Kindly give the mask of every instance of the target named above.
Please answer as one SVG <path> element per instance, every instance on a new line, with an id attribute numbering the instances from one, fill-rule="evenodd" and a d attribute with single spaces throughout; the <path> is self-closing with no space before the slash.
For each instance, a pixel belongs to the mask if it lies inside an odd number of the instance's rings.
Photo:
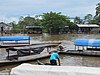
<path id="1" fill-rule="evenodd" d="M 30 36 L 1 36 L 0 48 L 22 47 L 22 46 L 30 46 L 30 45 L 37 45 L 37 44 L 61 44 L 62 43 L 62 42 L 30 43 L 31 40 L 34 39 L 32 39 Z"/>

